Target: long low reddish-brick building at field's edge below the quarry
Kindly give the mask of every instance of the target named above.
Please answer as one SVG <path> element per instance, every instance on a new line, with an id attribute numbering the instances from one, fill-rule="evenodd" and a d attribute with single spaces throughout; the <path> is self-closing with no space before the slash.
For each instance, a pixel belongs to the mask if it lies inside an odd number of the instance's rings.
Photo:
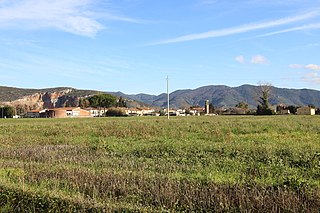
<path id="1" fill-rule="evenodd" d="M 47 118 L 91 117 L 91 113 L 89 111 L 81 109 L 80 107 L 47 109 L 45 114 Z"/>

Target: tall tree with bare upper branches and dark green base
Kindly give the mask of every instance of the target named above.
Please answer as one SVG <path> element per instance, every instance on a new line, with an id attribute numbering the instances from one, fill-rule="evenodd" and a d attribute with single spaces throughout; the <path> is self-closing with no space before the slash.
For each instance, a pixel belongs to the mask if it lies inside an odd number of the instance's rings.
<path id="1" fill-rule="evenodd" d="M 269 106 L 269 96 L 271 92 L 270 84 L 262 84 L 260 85 L 260 97 L 259 104 L 257 106 L 257 115 L 272 115 L 272 109 Z"/>

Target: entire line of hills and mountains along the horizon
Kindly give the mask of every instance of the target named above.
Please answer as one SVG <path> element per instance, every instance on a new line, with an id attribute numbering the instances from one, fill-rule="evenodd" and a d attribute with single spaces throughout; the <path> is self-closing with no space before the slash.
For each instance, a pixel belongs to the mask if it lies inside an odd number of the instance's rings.
<path id="1" fill-rule="evenodd" d="M 0 87 L 0 102 L 12 102 L 34 94 L 60 94 L 68 97 L 86 97 L 99 93 L 95 90 L 77 90 L 68 87 L 48 88 L 48 89 L 21 89 L 13 87 Z M 128 95 L 122 92 L 107 92 L 115 96 L 122 96 L 127 99 L 130 106 L 150 105 L 157 107 L 167 106 L 167 94 L 149 95 L 137 94 Z M 190 106 L 204 106 L 209 100 L 215 107 L 234 107 L 239 102 L 246 102 L 249 107 L 256 108 L 257 100 L 261 94 L 259 86 L 242 85 L 239 87 L 228 87 L 223 85 L 204 86 L 197 89 L 177 90 L 170 94 L 170 106 L 173 108 L 186 108 Z M 42 96 L 40 95 L 39 98 Z M 51 96 L 50 96 L 51 97 Z M 37 97 L 38 98 L 38 97 Z M 51 98 L 52 99 L 52 98 Z M 60 101 L 61 102 L 61 101 Z M 311 89 L 286 89 L 271 87 L 270 103 L 272 105 L 285 104 L 295 106 L 315 105 L 320 106 L 320 91 Z"/>

